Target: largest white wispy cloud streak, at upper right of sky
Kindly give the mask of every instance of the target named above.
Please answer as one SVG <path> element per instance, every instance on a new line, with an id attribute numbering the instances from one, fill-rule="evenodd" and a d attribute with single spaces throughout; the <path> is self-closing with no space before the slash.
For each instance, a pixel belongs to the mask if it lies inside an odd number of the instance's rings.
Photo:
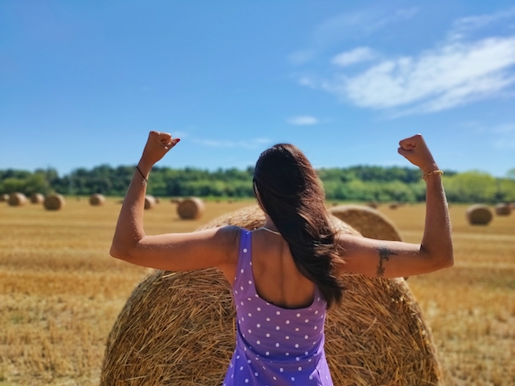
<path id="1" fill-rule="evenodd" d="M 435 49 L 375 60 L 354 75 L 340 72 L 323 81 L 304 76 L 299 83 L 322 88 L 356 106 L 397 110 L 397 115 L 430 113 L 497 96 L 515 83 L 515 35 L 475 41 L 462 38 L 467 28 L 513 16 L 515 12 L 510 11 L 469 21 L 460 19 L 456 22 L 459 28 L 455 27 L 460 33 L 450 33 L 452 39 Z M 362 49 L 343 52 L 342 62 L 372 60 L 373 51 Z"/>

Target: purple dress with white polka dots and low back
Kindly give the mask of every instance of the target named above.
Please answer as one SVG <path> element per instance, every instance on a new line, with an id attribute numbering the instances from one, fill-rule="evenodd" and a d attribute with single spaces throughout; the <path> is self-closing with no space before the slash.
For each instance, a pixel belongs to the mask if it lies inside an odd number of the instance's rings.
<path id="1" fill-rule="evenodd" d="M 251 233 L 241 231 L 232 286 L 236 349 L 223 386 L 332 385 L 323 351 L 326 303 L 315 287 L 307 308 L 276 307 L 259 298 L 252 274 Z"/>

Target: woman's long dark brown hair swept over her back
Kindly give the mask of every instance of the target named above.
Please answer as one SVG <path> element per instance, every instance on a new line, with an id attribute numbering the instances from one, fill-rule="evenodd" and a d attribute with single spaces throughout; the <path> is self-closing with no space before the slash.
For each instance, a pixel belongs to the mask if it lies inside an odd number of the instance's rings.
<path id="1" fill-rule="evenodd" d="M 338 246 L 322 183 L 304 153 L 288 143 L 262 152 L 253 186 L 259 206 L 289 244 L 297 269 L 318 286 L 328 308 L 340 303 L 343 286 L 334 275 Z"/>

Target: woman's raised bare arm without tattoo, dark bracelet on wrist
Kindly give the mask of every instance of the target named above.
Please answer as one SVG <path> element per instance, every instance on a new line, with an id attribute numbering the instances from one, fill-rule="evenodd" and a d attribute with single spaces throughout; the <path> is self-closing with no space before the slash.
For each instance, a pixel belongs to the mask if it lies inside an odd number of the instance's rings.
<path id="1" fill-rule="evenodd" d="M 145 234 L 143 216 L 148 175 L 155 162 L 177 142 L 179 140 L 169 133 L 149 133 L 118 216 L 110 254 L 126 262 L 165 271 L 218 267 L 226 273 L 238 260 L 238 248 L 234 248 L 239 235 L 237 227 L 183 234 Z"/>

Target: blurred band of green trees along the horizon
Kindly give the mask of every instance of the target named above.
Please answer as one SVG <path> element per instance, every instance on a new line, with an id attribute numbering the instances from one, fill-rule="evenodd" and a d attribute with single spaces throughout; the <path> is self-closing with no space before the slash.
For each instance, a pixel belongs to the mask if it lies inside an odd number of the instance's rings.
<path id="1" fill-rule="evenodd" d="M 317 170 L 326 198 L 342 201 L 421 202 L 426 198 L 420 170 L 407 167 L 352 166 Z M 54 169 L 0 170 L 0 193 L 21 192 L 48 195 L 123 197 L 134 166 L 100 165 L 80 168 L 59 176 Z M 253 197 L 254 170 L 236 168 L 201 170 L 154 167 L 147 193 L 156 197 L 250 198 Z M 445 170 L 443 176 L 449 202 L 515 202 L 515 169 L 506 178 L 480 171 L 457 173 Z"/>

